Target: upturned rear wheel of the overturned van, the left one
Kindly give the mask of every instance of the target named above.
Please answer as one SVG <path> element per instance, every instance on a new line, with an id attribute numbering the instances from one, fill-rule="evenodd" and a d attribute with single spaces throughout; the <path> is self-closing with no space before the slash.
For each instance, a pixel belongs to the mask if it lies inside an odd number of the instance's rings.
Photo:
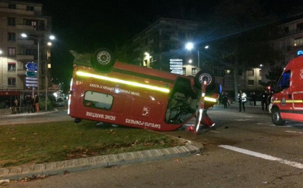
<path id="1" fill-rule="evenodd" d="M 91 57 L 91 65 L 97 71 L 108 71 L 114 64 L 114 53 L 105 48 L 96 50 Z"/>

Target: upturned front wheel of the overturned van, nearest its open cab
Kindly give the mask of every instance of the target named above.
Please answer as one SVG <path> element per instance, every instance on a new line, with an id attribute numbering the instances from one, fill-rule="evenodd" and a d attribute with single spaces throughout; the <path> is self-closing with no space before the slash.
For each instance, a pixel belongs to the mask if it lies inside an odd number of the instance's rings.
<path id="1" fill-rule="evenodd" d="M 207 89 L 213 90 L 215 87 L 215 76 L 210 70 L 201 70 L 194 77 L 194 84 L 201 88 L 202 83 L 206 81 Z"/>

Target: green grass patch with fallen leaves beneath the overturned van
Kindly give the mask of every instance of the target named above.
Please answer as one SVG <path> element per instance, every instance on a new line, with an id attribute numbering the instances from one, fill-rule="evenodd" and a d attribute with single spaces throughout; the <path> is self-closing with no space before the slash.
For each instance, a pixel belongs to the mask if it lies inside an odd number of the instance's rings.
<path id="1" fill-rule="evenodd" d="M 0 125 L 0 167 L 182 145 L 146 129 L 113 128 L 95 122 Z"/>

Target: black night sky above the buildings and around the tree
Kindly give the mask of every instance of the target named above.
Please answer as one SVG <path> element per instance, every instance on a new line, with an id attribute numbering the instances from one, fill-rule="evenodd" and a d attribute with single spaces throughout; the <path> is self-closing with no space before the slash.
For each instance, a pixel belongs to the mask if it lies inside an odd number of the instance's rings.
<path id="1" fill-rule="evenodd" d="M 227 0 L 236 1 L 236 0 Z M 43 4 L 44 14 L 53 18 L 52 75 L 61 82 L 70 79 L 73 57 L 70 50 L 93 52 L 100 47 L 114 49 L 161 17 L 207 20 L 221 1 L 29 1 Z M 267 13 L 281 17 L 296 9 L 299 1 L 258 1 Z M 303 9 L 302 9 L 303 12 Z"/>

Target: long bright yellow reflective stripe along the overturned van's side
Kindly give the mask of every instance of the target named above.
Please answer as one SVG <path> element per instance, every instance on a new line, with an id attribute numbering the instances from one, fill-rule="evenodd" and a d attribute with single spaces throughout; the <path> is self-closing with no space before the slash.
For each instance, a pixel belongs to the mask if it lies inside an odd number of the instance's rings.
<path id="1" fill-rule="evenodd" d="M 116 82 L 116 83 L 123 83 L 126 85 L 132 85 L 132 86 L 142 87 L 142 88 L 146 88 L 146 89 L 162 91 L 162 92 L 166 92 L 166 93 L 170 92 L 169 89 L 163 88 L 163 87 L 147 85 L 147 84 L 137 83 L 137 82 L 133 82 L 133 81 L 126 81 L 126 80 L 122 80 L 122 79 L 118 79 L 118 78 L 111 78 L 111 77 L 101 76 L 101 75 L 96 75 L 96 74 L 90 74 L 90 73 L 86 73 L 86 72 L 82 72 L 82 71 L 77 71 L 76 74 L 79 76 L 91 77 L 91 78 L 96 78 L 96 79 L 100 79 L 100 80 L 107 80 L 107 81 Z"/>

